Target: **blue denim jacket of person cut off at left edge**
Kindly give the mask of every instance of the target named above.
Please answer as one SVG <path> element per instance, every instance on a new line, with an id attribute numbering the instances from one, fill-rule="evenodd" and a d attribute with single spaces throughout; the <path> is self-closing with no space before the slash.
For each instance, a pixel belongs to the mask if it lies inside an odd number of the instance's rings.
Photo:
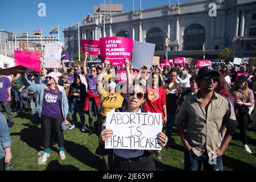
<path id="1" fill-rule="evenodd" d="M 0 159 L 5 157 L 5 148 L 11 147 L 11 137 L 5 116 L 0 113 Z"/>

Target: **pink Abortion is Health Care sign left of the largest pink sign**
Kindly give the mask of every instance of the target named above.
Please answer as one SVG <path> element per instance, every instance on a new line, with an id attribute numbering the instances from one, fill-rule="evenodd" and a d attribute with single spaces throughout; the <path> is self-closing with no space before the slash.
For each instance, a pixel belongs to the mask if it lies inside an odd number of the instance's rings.
<path id="1" fill-rule="evenodd" d="M 89 51 L 89 55 L 98 55 L 100 51 L 100 40 L 81 40 L 82 53 Z"/>

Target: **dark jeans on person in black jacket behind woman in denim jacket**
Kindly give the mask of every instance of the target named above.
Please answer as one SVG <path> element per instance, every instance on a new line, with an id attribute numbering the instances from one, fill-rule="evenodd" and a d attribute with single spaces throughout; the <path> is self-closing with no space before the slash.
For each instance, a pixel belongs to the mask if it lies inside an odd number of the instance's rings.
<path id="1" fill-rule="evenodd" d="M 79 113 L 82 126 L 85 126 L 85 117 L 84 117 L 84 114 L 82 113 L 83 109 L 84 109 L 84 104 L 77 102 L 76 99 L 74 98 L 71 102 L 72 120 L 74 123 L 76 123 L 77 122 L 76 113 Z"/>

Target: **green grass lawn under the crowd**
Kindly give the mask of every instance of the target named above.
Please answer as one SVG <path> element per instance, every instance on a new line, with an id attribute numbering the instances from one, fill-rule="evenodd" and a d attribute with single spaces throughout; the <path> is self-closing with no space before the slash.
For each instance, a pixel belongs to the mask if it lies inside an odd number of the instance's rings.
<path id="1" fill-rule="evenodd" d="M 4 113 L 6 115 L 6 113 Z M 95 153 L 98 138 L 95 134 L 81 133 L 80 129 L 64 131 L 64 147 L 67 159 L 60 160 L 57 144 L 50 148 L 50 158 L 46 165 L 38 164 L 38 152 L 43 150 L 40 125 L 30 122 L 30 114 L 13 113 L 15 125 L 10 128 L 12 139 L 13 170 L 102 170 L 102 159 Z M 88 115 L 86 123 L 88 125 Z M 78 117 L 79 118 L 79 117 Z M 256 170 L 256 133 L 247 131 L 248 145 L 253 151 L 243 150 L 239 130 L 223 156 L 224 170 Z M 157 170 L 182 170 L 184 167 L 183 144 L 174 128 L 172 150 L 162 150 L 162 160 L 155 158 Z"/>

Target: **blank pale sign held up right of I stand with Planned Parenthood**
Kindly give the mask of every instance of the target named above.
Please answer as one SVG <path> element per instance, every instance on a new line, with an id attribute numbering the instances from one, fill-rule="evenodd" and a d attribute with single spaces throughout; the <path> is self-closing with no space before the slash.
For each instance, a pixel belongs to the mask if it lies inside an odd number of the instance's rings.
<path id="1" fill-rule="evenodd" d="M 143 65 L 146 65 L 149 69 L 152 66 L 154 53 L 155 44 L 134 41 L 133 68 L 141 69 Z"/>

